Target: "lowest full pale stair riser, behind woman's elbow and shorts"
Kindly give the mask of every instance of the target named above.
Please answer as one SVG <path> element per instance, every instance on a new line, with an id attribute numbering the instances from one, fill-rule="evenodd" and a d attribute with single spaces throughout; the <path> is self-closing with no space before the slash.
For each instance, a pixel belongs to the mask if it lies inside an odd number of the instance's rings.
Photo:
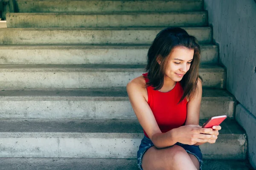
<path id="1" fill-rule="evenodd" d="M 45 133 L 37 138 L 33 133 L 19 134 L 19 138 L 0 138 L 0 157 L 136 158 L 142 139 L 142 134 L 70 133 L 61 137 Z M 246 147 L 243 135 L 220 134 L 215 144 L 204 144 L 201 151 L 204 159 L 245 159 Z"/>

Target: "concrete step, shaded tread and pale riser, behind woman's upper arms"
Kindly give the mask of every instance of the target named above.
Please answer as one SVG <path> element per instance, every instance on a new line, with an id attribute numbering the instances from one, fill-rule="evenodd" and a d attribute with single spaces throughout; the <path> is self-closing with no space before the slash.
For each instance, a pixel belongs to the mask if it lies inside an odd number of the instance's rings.
<path id="1" fill-rule="evenodd" d="M 235 105 L 227 91 L 204 88 L 200 119 L 234 119 Z M 136 119 L 125 88 L 0 89 L 0 108 L 1 119 Z"/>

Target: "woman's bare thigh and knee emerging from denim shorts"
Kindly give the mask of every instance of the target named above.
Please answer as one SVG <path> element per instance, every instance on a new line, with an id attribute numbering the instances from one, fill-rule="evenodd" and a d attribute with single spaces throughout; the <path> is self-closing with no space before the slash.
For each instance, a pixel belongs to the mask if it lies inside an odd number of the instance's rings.
<path id="1" fill-rule="evenodd" d="M 142 167 L 143 170 L 197 170 L 186 150 L 178 145 L 149 148 L 143 156 Z"/>

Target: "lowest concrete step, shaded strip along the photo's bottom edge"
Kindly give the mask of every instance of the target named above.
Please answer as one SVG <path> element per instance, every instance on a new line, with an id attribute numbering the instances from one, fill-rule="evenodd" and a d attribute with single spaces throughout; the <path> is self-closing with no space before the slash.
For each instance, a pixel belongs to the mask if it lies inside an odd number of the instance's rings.
<path id="1" fill-rule="evenodd" d="M 204 170 L 253 170 L 244 160 L 204 160 Z M 0 158 L 0 170 L 139 170 L 137 159 Z"/>

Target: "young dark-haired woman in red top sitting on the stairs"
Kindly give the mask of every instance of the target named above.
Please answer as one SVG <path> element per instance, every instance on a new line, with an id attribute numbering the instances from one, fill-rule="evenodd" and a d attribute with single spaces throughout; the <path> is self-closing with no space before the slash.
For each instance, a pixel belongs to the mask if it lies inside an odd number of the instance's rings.
<path id="1" fill-rule="evenodd" d="M 220 126 L 201 128 L 201 48 L 182 28 L 165 28 L 148 50 L 147 73 L 127 85 L 144 130 L 137 152 L 140 170 L 199 170 L 198 145 L 215 143 Z"/>

